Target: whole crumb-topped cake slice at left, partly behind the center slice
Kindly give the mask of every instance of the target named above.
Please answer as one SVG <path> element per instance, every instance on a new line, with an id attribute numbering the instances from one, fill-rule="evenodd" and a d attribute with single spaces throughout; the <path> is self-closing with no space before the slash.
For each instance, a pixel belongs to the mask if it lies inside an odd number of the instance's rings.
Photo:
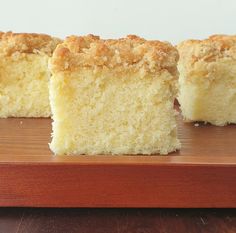
<path id="1" fill-rule="evenodd" d="M 0 117 L 48 117 L 48 59 L 59 39 L 0 33 Z"/>

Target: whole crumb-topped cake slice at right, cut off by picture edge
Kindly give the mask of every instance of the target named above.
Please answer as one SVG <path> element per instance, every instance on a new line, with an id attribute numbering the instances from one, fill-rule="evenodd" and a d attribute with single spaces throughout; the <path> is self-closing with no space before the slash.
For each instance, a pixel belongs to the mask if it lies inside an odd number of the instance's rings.
<path id="1" fill-rule="evenodd" d="M 214 35 L 178 45 L 179 96 L 186 121 L 236 123 L 236 36 Z"/>

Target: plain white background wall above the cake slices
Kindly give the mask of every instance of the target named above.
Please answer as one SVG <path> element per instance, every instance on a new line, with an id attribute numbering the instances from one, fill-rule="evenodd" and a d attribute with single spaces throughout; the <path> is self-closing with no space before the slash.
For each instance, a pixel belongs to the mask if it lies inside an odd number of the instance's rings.
<path id="1" fill-rule="evenodd" d="M 0 0 L 0 30 L 59 37 L 137 34 L 178 43 L 236 34 L 236 0 Z"/>

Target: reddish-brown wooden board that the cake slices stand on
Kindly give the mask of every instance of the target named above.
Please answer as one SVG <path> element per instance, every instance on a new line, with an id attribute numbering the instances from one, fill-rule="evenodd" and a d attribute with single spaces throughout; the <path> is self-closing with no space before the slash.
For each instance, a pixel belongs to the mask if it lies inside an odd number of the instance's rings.
<path id="1" fill-rule="evenodd" d="M 168 156 L 62 156 L 50 119 L 0 119 L 0 206 L 236 207 L 236 125 L 179 121 Z"/>

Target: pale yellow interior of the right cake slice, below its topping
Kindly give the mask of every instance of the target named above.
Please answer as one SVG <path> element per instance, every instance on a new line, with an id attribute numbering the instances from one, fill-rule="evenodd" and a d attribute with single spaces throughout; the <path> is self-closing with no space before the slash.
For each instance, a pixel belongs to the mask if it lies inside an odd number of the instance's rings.
<path id="1" fill-rule="evenodd" d="M 180 63 L 179 71 L 178 99 L 187 121 L 236 123 L 236 61 L 199 61 L 190 72 Z"/>

